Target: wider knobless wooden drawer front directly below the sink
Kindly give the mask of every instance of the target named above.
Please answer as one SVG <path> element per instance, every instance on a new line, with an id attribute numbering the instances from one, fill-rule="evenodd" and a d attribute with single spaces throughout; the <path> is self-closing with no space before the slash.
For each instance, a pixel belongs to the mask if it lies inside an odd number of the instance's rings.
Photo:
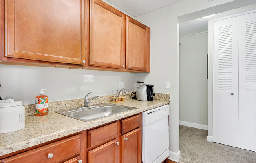
<path id="1" fill-rule="evenodd" d="M 117 136 L 117 122 L 88 131 L 88 148 L 95 147 Z"/>

